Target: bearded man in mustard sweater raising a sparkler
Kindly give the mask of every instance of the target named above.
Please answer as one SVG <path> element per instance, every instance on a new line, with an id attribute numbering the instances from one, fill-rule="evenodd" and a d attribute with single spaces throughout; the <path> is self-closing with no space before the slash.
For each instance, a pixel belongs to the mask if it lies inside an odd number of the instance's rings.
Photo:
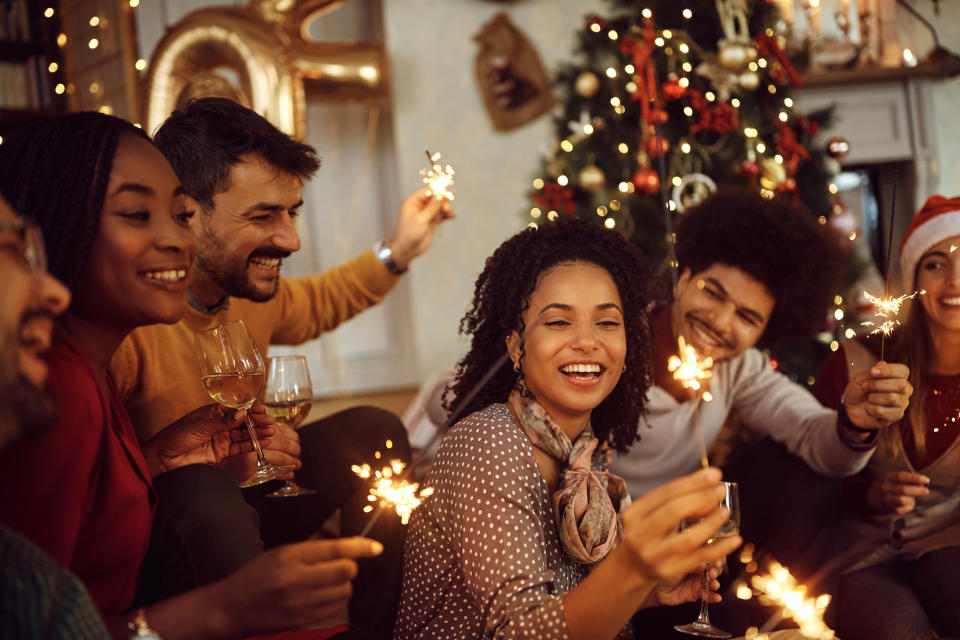
<path id="1" fill-rule="evenodd" d="M 189 278 L 183 319 L 134 331 L 111 363 L 141 441 L 210 405 L 200 383 L 195 334 L 242 319 L 261 353 L 271 344 L 316 338 L 379 303 L 410 261 L 427 250 L 437 226 L 453 216 L 449 201 L 421 189 L 403 202 L 389 241 L 323 273 L 284 279 L 281 261 L 300 248 L 294 221 L 302 186 L 320 165 L 315 150 L 223 98 L 192 100 L 171 114 L 155 142 L 198 205 L 193 228 L 199 251 L 189 275 L 161 274 Z M 318 491 L 311 496 L 268 500 L 275 483 L 241 491 L 238 483 L 256 471 L 254 455 L 156 478 L 157 517 L 141 579 L 142 604 L 213 582 L 264 546 L 308 537 L 337 509 L 341 534 L 356 534 L 368 516 L 362 513 L 365 491 L 349 464 L 371 459 L 387 439 L 409 460 L 399 419 L 372 407 L 348 409 L 299 431 L 278 426 L 264 453 L 273 464 L 294 465 L 297 481 Z M 402 534 L 388 514 L 369 534 L 384 542 L 385 552 L 363 561 L 354 580 L 349 613 L 358 626 L 392 630 Z"/>

